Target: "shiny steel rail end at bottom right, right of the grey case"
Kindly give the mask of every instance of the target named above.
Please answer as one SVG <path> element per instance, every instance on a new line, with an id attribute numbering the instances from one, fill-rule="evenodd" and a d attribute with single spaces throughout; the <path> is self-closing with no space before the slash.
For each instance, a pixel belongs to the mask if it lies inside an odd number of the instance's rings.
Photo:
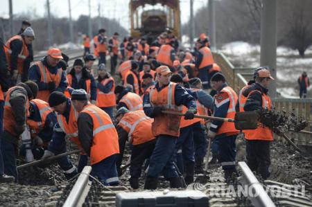
<path id="1" fill-rule="evenodd" d="M 250 168 L 248 168 L 248 165 L 245 162 L 239 162 L 239 168 L 241 168 L 242 172 L 241 177 L 239 177 L 239 181 L 243 186 L 248 186 L 248 194 L 250 192 L 254 192 L 253 195 L 248 195 L 252 204 L 256 207 L 275 206 L 266 191 L 263 189 L 261 183 L 259 183 Z M 250 190 L 250 188 L 252 190 Z"/>

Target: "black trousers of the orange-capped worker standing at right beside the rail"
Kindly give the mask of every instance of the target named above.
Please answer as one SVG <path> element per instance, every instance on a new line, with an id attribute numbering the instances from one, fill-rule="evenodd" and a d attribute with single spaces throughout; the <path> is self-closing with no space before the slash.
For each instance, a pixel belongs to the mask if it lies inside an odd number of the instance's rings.
<path id="1" fill-rule="evenodd" d="M 247 164 L 250 170 L 257 172 L 263 179 L 270 176 L 270 141 L 248 140 L 246 143 Z"/>

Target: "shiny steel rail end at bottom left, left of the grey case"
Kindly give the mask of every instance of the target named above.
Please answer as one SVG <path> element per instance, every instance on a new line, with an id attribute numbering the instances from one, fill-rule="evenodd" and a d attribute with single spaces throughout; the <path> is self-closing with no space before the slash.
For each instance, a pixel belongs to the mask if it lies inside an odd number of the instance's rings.
<path id="1" fill-rule="evenodd" d="M 85 197 L 87 197 L 89 188 L 91 186 L 89 185 L 89 174 L 91 170 L 91 166 L 85 166 L 85 168 L 83 168 L 83 172 L 80 173 L 63 207 L 83 206 Z"/>

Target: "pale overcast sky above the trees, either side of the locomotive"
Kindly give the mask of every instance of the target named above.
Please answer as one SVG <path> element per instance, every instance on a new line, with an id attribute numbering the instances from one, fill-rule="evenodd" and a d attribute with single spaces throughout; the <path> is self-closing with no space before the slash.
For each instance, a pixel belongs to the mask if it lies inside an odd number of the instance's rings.
<path id="1" fill-rule="evenodd" d="M 0 0 L 0 15 L 8 17 L 9 0 Z M 120 21 L 121 25 L 129 28 L 129 3 L 130 0 L 91 0 L 92 17 L 98 15 L 98 3 L 101 3 L 101 16 Z M 194 13 L 202 6 L 207 5 L 208 0 L 194 0 Z M 46 13 L 46 0 L 12 0 L 13 14 L 34 12 L 42 17 Z M 68 0 L 50 0 L 51 13 L 57 17 L 68 17 Z M 182 24 L 189 19 L 189 0 L 180 0 Z M 77 19 L 79 15 L 89 15 L 88 0 L 71 0 L 71 15 Z"/>

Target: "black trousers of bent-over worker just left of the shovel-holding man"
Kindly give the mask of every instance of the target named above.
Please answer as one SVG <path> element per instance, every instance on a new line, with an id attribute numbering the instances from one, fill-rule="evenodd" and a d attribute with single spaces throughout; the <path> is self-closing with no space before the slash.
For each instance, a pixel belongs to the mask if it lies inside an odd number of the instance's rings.
<path id="1" fill-rule="evenodd" d="M 141 177 L 141 168 L 146 159 L 153 154 L 157 139 L 140 145 L 132 145 L 130 175 L 133 178 Z"/>

